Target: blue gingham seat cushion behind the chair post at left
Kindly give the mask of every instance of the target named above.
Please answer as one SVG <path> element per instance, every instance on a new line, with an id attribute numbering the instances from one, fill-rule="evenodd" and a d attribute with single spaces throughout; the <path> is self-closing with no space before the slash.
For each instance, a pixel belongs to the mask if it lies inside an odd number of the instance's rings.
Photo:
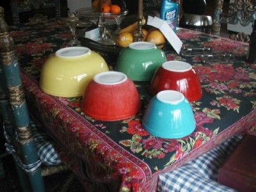
<path id="1" fill-rule="evenodd" d="M 60 164 L 61 159 L 52 145 L 55 141 L 53 141 L 44 131 L 40 130 L 41 125 L 35 120 L 31 120 L 30 125 L 35 137 L 37 154 L 42 163 L 47 165 Z"/>

